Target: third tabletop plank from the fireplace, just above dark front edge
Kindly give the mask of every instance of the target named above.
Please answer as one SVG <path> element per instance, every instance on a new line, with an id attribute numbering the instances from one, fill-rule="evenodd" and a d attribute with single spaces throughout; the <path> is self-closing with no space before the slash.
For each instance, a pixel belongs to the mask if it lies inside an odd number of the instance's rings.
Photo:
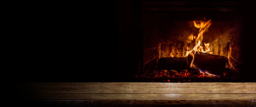
<path id="1" fill-rule="evenodd" d="M 31 98 L 35 100 L 256 100 L 256 94 L 32 94 Z"/>

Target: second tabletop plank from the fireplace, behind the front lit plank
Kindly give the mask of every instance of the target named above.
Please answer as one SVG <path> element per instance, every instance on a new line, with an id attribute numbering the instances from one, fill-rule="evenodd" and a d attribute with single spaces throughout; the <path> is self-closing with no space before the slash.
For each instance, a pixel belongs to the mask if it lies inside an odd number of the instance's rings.
<path id="1" fill-rule="evenodd" d="M 189 91 L 188 91 L 189 90 Z M 153 88 L 153 87 L 112 87 L 112 88 L 52 88 L 31 90 L 31 93 L 112 93 L 112 94 L 251 94 L 255 88 L 206 87 L 206 88 Z"/>

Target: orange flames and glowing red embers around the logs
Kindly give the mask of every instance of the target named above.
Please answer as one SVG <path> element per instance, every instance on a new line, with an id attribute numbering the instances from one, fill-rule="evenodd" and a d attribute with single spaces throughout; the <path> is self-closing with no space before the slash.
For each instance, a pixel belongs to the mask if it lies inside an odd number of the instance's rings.
<path id="1" fill-rule="evenodd" d="M 196 28 L 199 28 L 199 33 L 196 36 L 194 36 L 193 34 L 191 34 L 188 39 L 189 40 L 194 40 L 195 39 L 195 45 L 193 47 L 193 49 L 189 49 L 189 47 L 187 48 L 186 51 L 186 55 L 185 57 L 187 57 L 188 55 L 191 55 L 192 61 L 190 64 L 190 67 L 196 70 L 180 70 L 180 71 L 175 71 L 175 70 L 161 70 L 161 69 L 157 69 L 154 70 L 152 73 L 150 74 L 143 74 L 141 75 L 142 77 L 164 77 L 164 78 L 209 78 L 209 77 L 219 77 L 218 75 L 213 75 L 208 73 L 208 71 L 202 71 L 200 70 L 200 68 L 196 68 L 196 65 L 193 63 L 194 60 L 194 54 L 196 54 L 197 51 L 199 52 L 203 52 L 203 53 L 208 53 L 208 54 L 213 54 L 213 52 L 211 52 L 210 50 L 210 43 L 202 43 L 203 40 L 203 34 L 207 31 L 207 29 L 210 27 L 211 20 L 209 21 L 202 21 L 200 23 L 196 23 L 194 21 L 194 26 Z M 174 57 L 173 53 L 168 54 L 168 57 Z M 224 73 L 225 75 L 225 73 Z M 167 80 L 168 82 L 170 82 L 170 80 Z M 189 80 L 190 81 L 190 80 Z M 179 82 L 179 81 L 178 81 Z"/>

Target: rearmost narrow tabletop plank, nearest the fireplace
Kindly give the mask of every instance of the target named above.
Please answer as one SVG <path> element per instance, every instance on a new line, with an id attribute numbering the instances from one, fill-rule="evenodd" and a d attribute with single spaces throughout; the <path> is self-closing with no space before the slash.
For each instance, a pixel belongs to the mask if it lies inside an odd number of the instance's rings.
<path id="1" fill-rule="evenodd" d="M 207 83 L 146 83 L 146 82 L 90 82 L 90 83 L 19 83 L 20 86 L 29 88 L 67 88 L 67 87 L 155 87 L 155 88 L 205 88 L 205 87 L 234 87 L 234 88 L 256 88 L 256 83 L 220 83 L 220 82 L 207 82 Z"/>

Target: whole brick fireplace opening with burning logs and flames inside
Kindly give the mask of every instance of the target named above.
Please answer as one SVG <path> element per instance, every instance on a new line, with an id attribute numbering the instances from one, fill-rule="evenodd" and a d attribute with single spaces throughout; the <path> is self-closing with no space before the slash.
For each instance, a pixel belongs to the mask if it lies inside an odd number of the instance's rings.
<path id="1" fill-rule="evenodd" d="M 243 34 L 247 27 L 239 3 L 141 1 L 143 51 L 134 80 L 245 81 Z"/>

